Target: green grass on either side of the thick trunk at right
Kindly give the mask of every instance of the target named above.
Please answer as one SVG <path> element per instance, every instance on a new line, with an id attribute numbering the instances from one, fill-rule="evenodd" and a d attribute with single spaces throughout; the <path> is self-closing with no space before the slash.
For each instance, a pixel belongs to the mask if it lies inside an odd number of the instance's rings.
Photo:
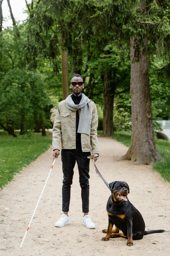
<path id="1" fill-rule="evenodd" d="M 130 132 L 115 132 L 113 139 L 123 143 L 127 147 L 131 144 Z M 152 164 L 152 169 L 156 170 L 161 176 L 170 181 L 170 141 L 158 140 L 155 138 L 156 148 L 164 161 L 155 162 Z"/>

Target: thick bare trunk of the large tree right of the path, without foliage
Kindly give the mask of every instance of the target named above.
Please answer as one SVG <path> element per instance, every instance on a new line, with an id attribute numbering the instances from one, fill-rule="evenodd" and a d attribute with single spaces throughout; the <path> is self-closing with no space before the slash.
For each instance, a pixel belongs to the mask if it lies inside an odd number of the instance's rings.
<path id="1" fill-rule="evenodd" d="M 122 159 L 132 160 L 135 164 L 152 164 L 161 161 L 162 157 L 156 150 L 154 140 L 149 88 L 149 57 L 146 55 L 147 38 L 144 39 L 144 50 L 139 49 L 138 39 L 131 38 L 132 138 L 131 145 Z M 137 60 L 136 56 L 138 56 Z"/>

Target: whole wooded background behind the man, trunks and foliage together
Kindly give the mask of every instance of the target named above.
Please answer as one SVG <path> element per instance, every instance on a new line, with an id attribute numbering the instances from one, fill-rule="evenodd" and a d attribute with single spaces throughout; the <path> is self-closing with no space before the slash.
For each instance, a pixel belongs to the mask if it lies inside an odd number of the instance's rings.
<path id="1" fill-rule="evenodd" d="M 28 18 L 3 27 L 0 0 L 0 126 L 13 136 L 52 128 L 51 112 L 78 73 L 104 136 L 131 131 L 124 159 L 162 160 L 153 135 L 169 120 L 170 3 L 25 0 Z M 55 111 L 54 111 L 55 112 Z M 152 123 L 153 121 L 153 123 Z M 146 157 L 147 156 L 147 157 Z"/>

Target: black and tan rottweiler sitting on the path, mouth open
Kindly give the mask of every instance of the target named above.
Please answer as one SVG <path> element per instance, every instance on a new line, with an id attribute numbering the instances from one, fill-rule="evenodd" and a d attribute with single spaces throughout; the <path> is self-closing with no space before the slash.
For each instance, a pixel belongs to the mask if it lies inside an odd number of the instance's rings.
<path id="1" fill-rule="evenodd" d="M 124 237 L 127 245 L 132 246 L 133 240 L 142 239 L 144 235 L 161 233 L 165 230 L 145 231 L 144 219 L 139 211 L 128 200 L 129 186 L 124 181 L 114 181 L 109 183 L 111 196 L 107 201 L 108 229 L 102 230 L 107 233 L 102 238 L 107 241 L 110 238 Z M 115 229 L 113 228 L 115 225 Z M 119 231 L 123 233 L 119 233 Z"/>

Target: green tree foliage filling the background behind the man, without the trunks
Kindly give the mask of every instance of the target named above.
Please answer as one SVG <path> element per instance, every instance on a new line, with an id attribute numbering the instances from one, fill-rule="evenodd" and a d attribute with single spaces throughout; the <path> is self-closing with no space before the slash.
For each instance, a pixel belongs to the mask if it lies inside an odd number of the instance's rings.
<path id="1" fill-rule="evenodd" d="M 131 129 L 130 37 L 149 42 L 153 120 L 170 118 L 169 1 L 41 0 L 29 5 L 29 18 L 16 29 L 5 28 L 0 40 L 1 121 L 34 128 L 42 112 L 51 128 L 50 108 L 62 100 L 62 49 L 68 49 L 69 80 L 81 73 L 84 93 L 98 104 L 103 127 L 103 74 L 111 70 L 114 87 L 114 130 Z M 144 7 L 144 8 L 143 8 Z M 157 56 L 161 58 L 157 58 Z M 159 129 L 154 123 L 154 128 Z"/>

